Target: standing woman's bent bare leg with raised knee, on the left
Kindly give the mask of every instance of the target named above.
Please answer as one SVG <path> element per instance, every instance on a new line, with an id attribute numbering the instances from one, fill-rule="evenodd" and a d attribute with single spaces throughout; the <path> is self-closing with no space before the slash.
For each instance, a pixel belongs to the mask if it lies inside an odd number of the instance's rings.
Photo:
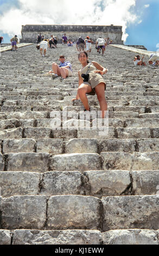
<path id="1" fill-rule="evenodd" d="M 90 93 L 92 90 L 91 86 L 88 84 L 82 83 L 78 88 L 78 95 L 80 97 L 81 102 L 83 103 L 86 110 L 90 110 L 90 106 L 88 105 L 88 99 L 86 93 Z"/>

